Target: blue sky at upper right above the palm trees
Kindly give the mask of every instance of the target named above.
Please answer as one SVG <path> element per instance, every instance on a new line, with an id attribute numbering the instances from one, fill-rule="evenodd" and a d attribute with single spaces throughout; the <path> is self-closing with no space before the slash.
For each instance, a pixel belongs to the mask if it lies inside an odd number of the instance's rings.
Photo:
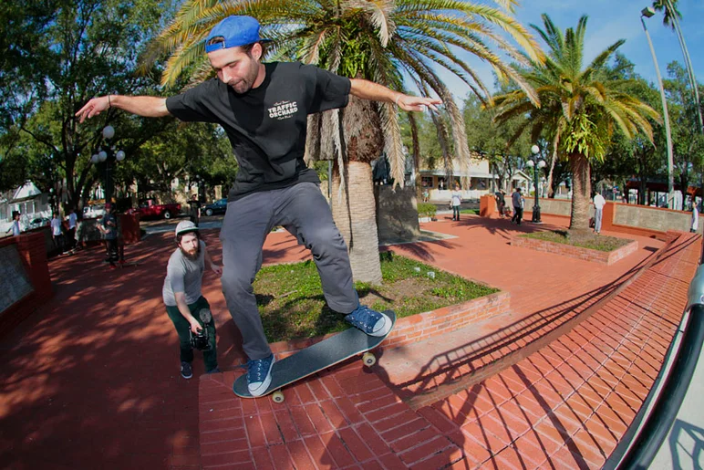
<path id="1" fill-rule="evenodd" d="M 530 24 L 543 26 L 541 15 L 546 13 L 564 31 L 567 27 L 575 27 L 580 16 L 587 15 L 585 63 L 618 39 L 626 39 L 619 51 L 636 64 L 639 75 L 655 83 L 655 67 L 640 23 L 640 10 L 648 5 L 652 5 L 652 0 L 522 0 L 516 16 L 526 27 Z M 704 0 L 679 0 L 678 9 L 682 14 L 680 25 L 694 73 L 699 83 L 704 83 Z M 669 62 L 678 60 L 684 64 L 677 36 L 662 24 L 660 14 L 646 19 L 646 24 L 656 49 L 660 73 L 665 78 Z M 492 69 L 473 58 L 467 62 L 492 89 Z M 445 73 L 441 75 L 457 98 L 467 95 L 469 89 L 461 80 Z"/>

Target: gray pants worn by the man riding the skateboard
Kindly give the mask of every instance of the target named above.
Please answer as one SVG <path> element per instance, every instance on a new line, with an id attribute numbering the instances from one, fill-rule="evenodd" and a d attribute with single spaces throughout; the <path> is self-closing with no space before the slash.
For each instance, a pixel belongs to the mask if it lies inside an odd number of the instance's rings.
<path id="1" fill-rule="evenodd" d="M 243 350 L 250 360 L 271 354 L 252 283 L 262 267 L 266 235 L 282 225 L 313 253 L 327 305 L 349 313 L 359 303 L 352 283 L 347 245 L 315 183 L 252 193 L 227 204 L 220 232 L 223 242 L 223 294 Z"/>

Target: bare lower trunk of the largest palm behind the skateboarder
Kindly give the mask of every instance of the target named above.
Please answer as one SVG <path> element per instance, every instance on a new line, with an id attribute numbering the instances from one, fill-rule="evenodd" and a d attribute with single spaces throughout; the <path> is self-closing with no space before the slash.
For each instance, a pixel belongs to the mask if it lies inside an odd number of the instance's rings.
<path id="1" fill-rule="evenodd" d="M 347 184 L 342 193 L 337 164 L 333 172 L 333 218 L 349 250 L 355 282 L 381 284 L 378 256 L 377 209 L 371 165 L 347 162 Z"/>

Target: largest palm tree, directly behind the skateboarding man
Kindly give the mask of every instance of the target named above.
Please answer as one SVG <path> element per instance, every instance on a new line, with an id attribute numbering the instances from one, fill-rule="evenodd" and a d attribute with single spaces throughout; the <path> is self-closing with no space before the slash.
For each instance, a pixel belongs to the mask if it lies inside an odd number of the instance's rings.
<path id="1" fill-rule="evenodd" d="M 542 60 L 533 37 L 512 17 L 517 0 L 494 3 L 498 7 L 459 0 L 190 0 L 164 29 L 148 59 L 170 55 L 164 84 L 173 84 L 186 71 L 192 82 L 198 82 L 212 75 L 202 45 L 212 26 L 225 16 L 254 16 L 263 26 L 263 37 L 274 39 L 269 60 L 300 60 L 399 90 L 405 89 L 405 74 L 415 89 L 436 93 L 446 107 L 455 155 L 468 165 L 470 151 L 461 111 L 432 67 L 449 70 L 476 94 L 491 99 L 481 79 L 458 55 L 463 49 L 489 62 L 500 77 L 511 78 L 535 100 L 533 90 L 489 43 L 511 57 Z M 370 162 L 384 151 L 391 177 L 403 185 L 405 159 L 399 119 L 392 104 L 351 98 L 345 110 L 327 111 L 309 119 L 306 157 L 335 160 L 334 188 L 338 196 L 334 197 L 333 214 L 347 240 L 354 277 L 379 283 Z M 445 123 L 440 114 L 435 118 Z"/>

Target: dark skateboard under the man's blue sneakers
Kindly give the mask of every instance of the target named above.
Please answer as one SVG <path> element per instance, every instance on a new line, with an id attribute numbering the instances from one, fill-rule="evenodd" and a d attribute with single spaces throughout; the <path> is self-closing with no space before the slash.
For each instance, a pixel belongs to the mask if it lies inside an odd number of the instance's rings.
<path id="1" fill-rule="evenodd" d="M 262 396 L 273 393 L 272 400 L 274 402 L 284 402 L 284 393 L 281 392 L 281 389 L 286 385 L 305 379 L 309 375 L 323 371 L 338 362 L 357 356 L 357 354 L 362 354 L 364 365 L 371 367 L 376 364 L 377 358 L 369 350 L 381 344 L 396 325 L 396 313 L 393 310 L 386 310 L 383 313 L 391 319 L 391 329 L 385 336 L 369 336 L 361 330 L 351 327 L 335 336 L 323 339 L 305 350 L 299 350 L 282 360 L 274 361 L 272 382 Z M 259 398 L 253 397 L 247 390 L 246 374 L 234 381 L 233 392 L 242 398 Z"/>

